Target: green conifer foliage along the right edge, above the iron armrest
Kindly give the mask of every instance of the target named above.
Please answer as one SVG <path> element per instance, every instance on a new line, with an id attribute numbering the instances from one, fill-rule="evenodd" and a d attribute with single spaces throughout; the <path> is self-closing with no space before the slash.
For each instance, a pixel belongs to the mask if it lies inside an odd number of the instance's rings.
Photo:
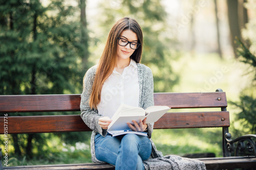
<path id="1" fill-rule="evenodd" d="M 252 16 L 256 15 L 256 3 L 255 1 L 248 1 L 245 4 L 246 8 L 250 10 Z M 247 74 L 252 75 L 252 81 L 248 81 L 247 87 L 240 94 L 239 102 L 232 102 L 233 105 L 240 109 L 237 114 L 243 125 L 243 130 L 247 133 L 256 133 L 256 20 L 251 18 L 243 29 L 243 38 L 248 42 L 245 45 L 240 39 L 237 39 L 237 54 L 241 62 L 246 63 L 249 67 Z M 248 46 L 248 47 L 247 47 Z"/>

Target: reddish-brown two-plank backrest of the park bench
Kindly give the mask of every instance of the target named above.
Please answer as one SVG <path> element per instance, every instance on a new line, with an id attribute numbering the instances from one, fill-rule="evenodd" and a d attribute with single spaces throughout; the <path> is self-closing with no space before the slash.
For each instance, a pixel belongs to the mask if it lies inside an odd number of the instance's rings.
<path id="1" fill-rule="evenodd" d="M 154 93 L 155 105 L 172 109 L 220 108 L 220 111 L 170 112 L 155 123 L 154 129 L 229 127 L 225 92 Z M 0 127 L 8 118 L 8 134 L 91 131 L 77 115 L 26 116 L 26 112 L 80 111 L 80 94 L 0 95 Z M 170 111 L 172 111 L 172 109 Z M 24 112 L 23 116 L 11 116 Z M 4 128 L 0 128 L 4 134 Z"/>

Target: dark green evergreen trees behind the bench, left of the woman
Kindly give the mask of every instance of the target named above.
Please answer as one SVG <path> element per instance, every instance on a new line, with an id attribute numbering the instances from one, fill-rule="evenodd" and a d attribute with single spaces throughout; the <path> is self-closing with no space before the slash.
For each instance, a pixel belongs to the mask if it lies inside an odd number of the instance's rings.
<path id="1" fill-rule="evenodd" d="M 84 50 L 85 1 L 81 4 L 79 8 L 55 0 L 44 7 L 39 0 L 0 1 L 0 94 L 80 93 L 81 61 L 83 69 L 90 65 L 88 48 Z M 81 23 L 79 15 L 74 17 L 79 9 Z M 15 155 L 32 157 L 33 148 L 46 154 L 43 135 L 12 135 Z"/>

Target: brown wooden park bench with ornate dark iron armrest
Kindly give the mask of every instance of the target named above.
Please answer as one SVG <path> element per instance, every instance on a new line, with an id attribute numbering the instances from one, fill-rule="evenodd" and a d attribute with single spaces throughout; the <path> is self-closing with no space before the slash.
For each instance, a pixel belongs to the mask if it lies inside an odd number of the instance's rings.
<path id="1" fill-rule="evenodd" d="M 203 93 L 154 93 L 155 105 L 172 109 L 220 108 L 219 111 L 166 113 L 155 123 L 154 129 L 222 128 L 223 157 L 200 158 L 207 169 L 256 167 L 256 135 L 245 135 L 231 140 L 228 132 L 229 112 L 226 111 L 226 93 L 221 89 Z M 80 111 L 80 94 L 58 95 L 0 95 L 0 112 L 8 114 L 8 134 L 91 131 L 80 115 L 11 116 L 11 112 Z M 206 109 L 208 110 L 208 109 Z M 172 110 L 171 110 L 172 111 Z M 0 117 L 0 133 L 4 134 L 5 117 Z M 214 139 L 212 139 L 214 140 Z M 239 156 L 249 150 L 253 156 Z M 235 157 L 231 157 L 235 152 Z M 3 157 L 2 157 L 3 158 Z M 3 161 L 3 160 L 2 160 Z M 13 166 L 5 169 L 114 169 L 106 163 Z"/>

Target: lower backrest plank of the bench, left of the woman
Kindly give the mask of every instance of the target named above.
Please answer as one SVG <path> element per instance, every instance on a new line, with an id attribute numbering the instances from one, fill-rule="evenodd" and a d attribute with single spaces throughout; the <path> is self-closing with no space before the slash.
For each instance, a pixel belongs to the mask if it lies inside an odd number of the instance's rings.
<path id="1" fill-rule="evenodd" d="M 4 117 L 0 117 L 0 126 L 2 125 L 4 127 Z M 80 115 L 8 117 L 8 134 L 81 131 L 91 131 L 91 129 L 84 124 Z M 4 130 L 0 129 L 0 134 L 3 132 Z"/>

